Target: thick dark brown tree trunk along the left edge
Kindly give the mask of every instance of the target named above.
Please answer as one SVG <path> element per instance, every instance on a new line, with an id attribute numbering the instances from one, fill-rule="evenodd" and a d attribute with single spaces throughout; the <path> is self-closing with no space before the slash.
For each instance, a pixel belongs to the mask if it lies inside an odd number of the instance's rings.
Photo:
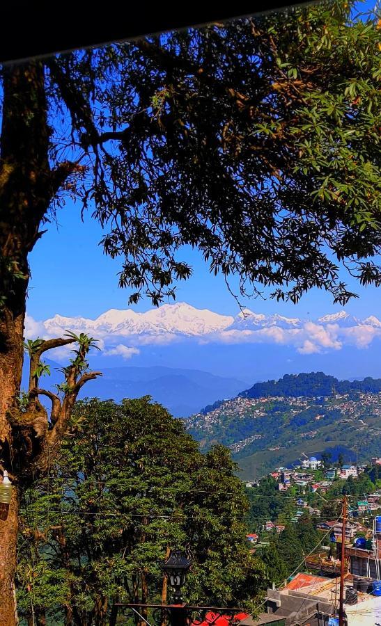
<path id="1" fill-rule="evenodd" d="M 42 64 L 4 67 L 0 155 L 0 462 L 10 474 L 22 465 L 22 447 L 16 454 L 9 410 L 15 408 L 21 385 L 29 279 L 27 255 L 38 239 L 41 220 L 52 198 L 46 111 Z M 8 517 L 0 520 L 0 626 L 17 623 L 17 513 L 14 489 Z"/>

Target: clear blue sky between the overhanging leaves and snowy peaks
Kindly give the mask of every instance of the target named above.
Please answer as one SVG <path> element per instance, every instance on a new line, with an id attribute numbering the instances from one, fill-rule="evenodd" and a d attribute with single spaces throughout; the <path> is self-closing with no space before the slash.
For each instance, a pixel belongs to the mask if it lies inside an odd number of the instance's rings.
<path id="1" fill-rule="evenodd" d="M 359 5 L 362 11 L 374 6 L 375 0 Z M 118 289 L 120 262 L 104 255 L 102 246 L 98 245 L 101 237 L 100 226 L 90 213 L 81 222 L 79 204 L 68 200 L 59 210 L 57 223 L 48 225 L 48 232 L 30 256 L 32 280 L 27 307 L 34 319 L 47 319 L 56 313 L 95 318 L 110 308 L 127 308 L 129 292 Z M 177 299 L 198 308 L 236 314 L 238 305 L 228 293 L 223 278 L 210 275 L 196 250 L 184 250 L 183 258 L 193 266 L 194 275 L 179 284 Z M 347 280 L 345 275 L 343 278 Z M 377 289 L 361 288 L 353 279 L 348 284 L 360 296 L 345 307 L 348 312 L 360 317 L 379 314 L 381 301 Z M 235 288 L 234 282 L 232 287 Z M 270 299 L 241 302 L 256 312 L 313 318 L 340 308 L 333 305 L 329 294 L 318 290 L 304 296 L 296 306 Z M 151 306 L 150 301 L 143 300 L 134 309 L 141 312 Z"/>

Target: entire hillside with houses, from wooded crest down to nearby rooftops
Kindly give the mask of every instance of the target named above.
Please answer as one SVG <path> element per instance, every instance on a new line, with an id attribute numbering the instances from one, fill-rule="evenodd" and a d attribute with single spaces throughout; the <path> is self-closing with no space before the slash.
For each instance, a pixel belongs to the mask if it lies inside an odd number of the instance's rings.
<path id="1" fill-rule="evenodd" d="M 381 623 L 380 383 L 283 376 L 186 422 L 241 470 L 247 541 L 269 570 L 261 623 L 339 624 L 341 574 L 344 623 Z"/>

